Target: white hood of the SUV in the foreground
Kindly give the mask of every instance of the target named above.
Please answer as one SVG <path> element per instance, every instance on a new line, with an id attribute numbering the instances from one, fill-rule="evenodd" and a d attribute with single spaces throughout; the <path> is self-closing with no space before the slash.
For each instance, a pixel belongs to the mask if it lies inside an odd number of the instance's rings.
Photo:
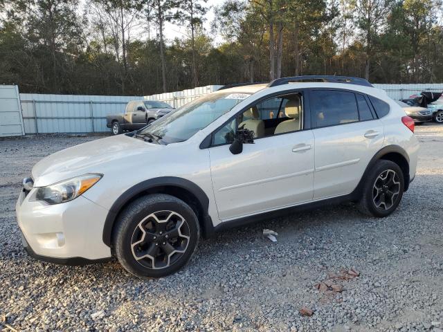
<path id="1" fill-rule="evenodd" d="M 103 173 L 109 163 L 126 160 L 156 151 L 157 145 L 126 135 L 118 135 L 69 147 L 40 160 L 32 171 L 35 187 L 51 185 L 87 173 Z"/>

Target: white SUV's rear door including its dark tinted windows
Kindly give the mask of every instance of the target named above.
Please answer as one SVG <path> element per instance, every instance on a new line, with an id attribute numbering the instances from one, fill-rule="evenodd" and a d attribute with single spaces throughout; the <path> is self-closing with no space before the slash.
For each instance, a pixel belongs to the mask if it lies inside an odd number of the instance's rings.
<path id="1" fill-rule="evenodd" d="M 315 138 L 314 200 L 349 194 L 383 145 L 383 124 L 361 93 L 311 89 L 309 104 Z"/>

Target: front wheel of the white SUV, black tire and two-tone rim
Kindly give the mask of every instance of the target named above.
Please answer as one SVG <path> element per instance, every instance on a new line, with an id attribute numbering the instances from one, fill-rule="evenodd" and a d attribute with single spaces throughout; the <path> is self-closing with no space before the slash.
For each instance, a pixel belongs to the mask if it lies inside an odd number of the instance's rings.
<path id="1" fill-rule="evenodd" d="M 199 237 L 199 221 L 189 205 L 174 196 L 152 194 L 136 199 L 120 214 L 113 243 L 129 273 L 160 278 L 188 263 Z"/>

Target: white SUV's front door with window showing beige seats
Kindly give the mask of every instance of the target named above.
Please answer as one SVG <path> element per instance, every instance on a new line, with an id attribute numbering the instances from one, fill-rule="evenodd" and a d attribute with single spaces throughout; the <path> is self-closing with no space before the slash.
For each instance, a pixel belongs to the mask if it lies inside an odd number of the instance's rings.
<path id="1" fill-rule="evenodd" d="M 244 116 L 240 114 L 214 133 L 213 147 L 209 148 L 210 170 L 219 219 L 223 221 L 312 199 L 314 135 L 311 130 L 302 130 L 302 95 L 274 99 L 264 102 L 269 107 L 257 104 L 251 108 L 254 111 L 246 110 Z M 275 109 L 270 109 L 273 105 Z M 266 120 L 275 122 L 273 130 L 264 123 Z M 237 127 L 260 135 L 253 144 L 244 144 L 240 154 L 232 154 L 230 138 Z"/>

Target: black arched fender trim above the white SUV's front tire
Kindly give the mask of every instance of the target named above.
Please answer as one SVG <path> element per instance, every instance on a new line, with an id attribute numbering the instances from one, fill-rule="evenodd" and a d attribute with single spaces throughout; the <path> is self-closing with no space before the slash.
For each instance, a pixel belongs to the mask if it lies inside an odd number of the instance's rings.
<path id="1" fill-rule="evenodd" d="M 133 199 L 138 194 L 141 194 L 142 192 L 145 192 L 150 189 L 154 189 L 156 187 L 179 187 L 184 190 L 188 190 L 188 192 L 192 192 L 194 196 L 199 201 L 201 208 L 203 210 L 203 216 L 201 216 L 204 228 L 204 232 L 206 228 L 213 227 L 212 220 L 210 219 L 210 216 L 208 215 L 208 208 L 209 208 L 209 199 L 208 196 L 206 196 L 206 193 L 195 183 L 192 183 L 189 180 L 186 180 L 185 178 L 178 178 L 175 176 L 162 176 L 159 178 L 151 178 L 150 180 L 143 181 L 141 183 L 138 183 L 137 185 L 134 185 L 133 187 L 130 187 L 128 190 L 123 192 L 118 199 L 112 204 L 111 209 L 109 209 L 109 212 L 107 214 L 106 220 L 105 220 L 105 226 L 103 228 L 103 242 L 111 247 L 111 240 L 112 240 L 112 229 L 114 228 L 114 223 L 116 222 L 116 218 L 118 216 L 118 213 L 120 210 L 126 205 L 127 202 L 129 202 L 131 199 Z"/>

